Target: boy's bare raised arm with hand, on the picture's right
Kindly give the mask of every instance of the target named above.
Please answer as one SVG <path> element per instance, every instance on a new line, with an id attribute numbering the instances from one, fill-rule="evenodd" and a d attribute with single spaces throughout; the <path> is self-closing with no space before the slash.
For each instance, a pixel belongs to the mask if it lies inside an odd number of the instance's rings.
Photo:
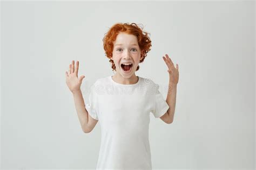
<path id="1" fill-rule="evenodd" d="M 169 56 L 167 54 L 165 56 L 166 58 L 163 56 L 163 59 L 169 68 L 167 70 L 167 72 L 169 72 L 169 88 L 168 88 L 168 94 L 166 97 L 166 103 L 169 105 L 169 109 L 160 118 L 164 122 L 170 124 L 173 122 L 175 106 L 176 106 L 177 84 L 179 81 L 179 67 L 178 67 L 178 64 L 176 64 L 176 68 L 175 68 Z"/>

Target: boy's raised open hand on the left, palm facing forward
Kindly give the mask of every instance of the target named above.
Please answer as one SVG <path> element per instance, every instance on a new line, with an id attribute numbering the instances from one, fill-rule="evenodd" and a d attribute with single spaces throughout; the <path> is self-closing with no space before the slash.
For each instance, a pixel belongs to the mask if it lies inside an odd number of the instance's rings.
<path id="1" fill-rule="evenodd" d="M 65 72 L 66 74 L 66 84 L 68 85 L 70 91 L 75 93 L 76 91 L 80 90 L 80 86 L 84 79 L 84 75 L 80 76 L 78 79 L 78 68 L 79 68 L 79 61 L 76 62 L 72 60 L 71 65 L 69 65 L 69 72 Z"/>

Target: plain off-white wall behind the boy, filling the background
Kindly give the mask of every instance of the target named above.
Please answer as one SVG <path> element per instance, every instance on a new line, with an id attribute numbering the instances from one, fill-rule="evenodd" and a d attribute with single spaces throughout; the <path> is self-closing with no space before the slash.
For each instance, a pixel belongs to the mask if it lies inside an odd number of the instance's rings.
<path id="1" fill-rule="evenodd" d="M 1 167 L 96 168 L 100 125 L 83 133 L 65 84 L 112 75 L 103 37 L 143 24 L 152 48 L 136 75 L 167 96 L 161 58 L 179 65 L 172 124 L 151 115 L 153 168 L 254 169 L 255 2 L 1 2 Z M 86 94 L 86 90 L 83 90 Z"/>

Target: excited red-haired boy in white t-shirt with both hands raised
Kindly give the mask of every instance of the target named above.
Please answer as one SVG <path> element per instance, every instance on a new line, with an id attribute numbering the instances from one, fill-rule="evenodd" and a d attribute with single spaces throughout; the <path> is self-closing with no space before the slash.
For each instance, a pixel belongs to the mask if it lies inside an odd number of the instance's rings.
<path id="1" fill-rule="evenodd" d="M 178 65 L 174 67 L 166 54 L 169 68 L 169 91 L 166 100 L 159 85 L 136 76 L 139 63 L 150 51 L 151 40 L 137 24 L 114 24 L 106 33 L 104 49 L 116 71 L 98 79 L 92 86 L 89 102 L 84 104 L 78 79 L 79 62 L 72 61 L 66 83 L 71 90 L 80 125 L 89 133 L 100 122 L 102 140 L 97 169 L 152 169 L 149 144 L 150 112 L 165 123 L 173 122 Z"/>

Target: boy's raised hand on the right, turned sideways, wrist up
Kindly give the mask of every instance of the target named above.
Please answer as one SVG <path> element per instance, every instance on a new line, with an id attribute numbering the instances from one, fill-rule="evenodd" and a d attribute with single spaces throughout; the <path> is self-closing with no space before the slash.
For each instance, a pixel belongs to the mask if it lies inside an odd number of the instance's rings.
<path id="1" fill-rule="evenodd" d="M 176 64 L 176 68 L 175 68 L 171 58 L 169 58 L 167 54 L 165 54 L 165 56 L 163 56 L 163 59 L 168 67 L 167 72 L 169 72 L 169 78 L 170 78 L 169 83 L 176 85 L 178 84 L 178 81 L 179 81 L 179 66 L 178 64 Z"/>

